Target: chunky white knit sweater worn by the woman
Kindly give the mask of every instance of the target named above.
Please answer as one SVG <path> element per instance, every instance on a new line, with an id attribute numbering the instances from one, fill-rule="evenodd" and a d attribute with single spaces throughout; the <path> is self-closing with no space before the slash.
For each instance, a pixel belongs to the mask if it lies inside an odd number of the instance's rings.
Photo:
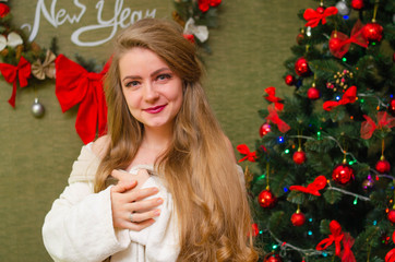
<path id="1" fill-rule="evenodd" d="M 160 216 L 141 230 L 115 229 L 110 187 L 94 193 L 93 182 L 99 159 L 89 145 L 83 146 L 69 178 L 69 186 L 57 199 L 43 226 L 44 245 L 53 261 L 172 262 L 179 253 L 177 216 L 170 193 L 160 179 L 151 176 L 142 188 L 157 187 L 164 199 Z M 135 166 L 131 174 L 140 168 Z M 152 196 L 152 198 L 154 198 Z"/>

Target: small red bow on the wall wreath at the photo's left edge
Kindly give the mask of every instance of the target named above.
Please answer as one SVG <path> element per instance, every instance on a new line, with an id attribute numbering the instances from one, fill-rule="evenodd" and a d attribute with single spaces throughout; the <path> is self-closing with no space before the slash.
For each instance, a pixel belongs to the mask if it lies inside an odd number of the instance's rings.
<path id="1" fill-rule="evenodd" d="M 9 63 L 0 63 L 0 71 L 4 76 L 5 81 L 12 83 L 12 95 L 9 99 L 9 104 L 12 107 L 15 107 L 15 97 L 16 97 L 16 76 L 20 80 L 20 86 L 25 87 L 27 85 L 27 79 L 31 76 L 31 63 L 24 58 L 21 57 L 17 66 L 12 66 Z"/>

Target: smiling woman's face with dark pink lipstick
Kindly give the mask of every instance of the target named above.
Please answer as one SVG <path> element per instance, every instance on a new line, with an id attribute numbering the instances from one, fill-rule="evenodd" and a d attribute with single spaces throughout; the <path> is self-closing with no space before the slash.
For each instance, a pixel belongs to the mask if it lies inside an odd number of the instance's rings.
<path id="1" fill-rule="evenodd" d="M 134 47 L 119 60 L 130 112 L 146 129 L 171 129 L 182 105 L 182 81 L 155 52 Z"/>

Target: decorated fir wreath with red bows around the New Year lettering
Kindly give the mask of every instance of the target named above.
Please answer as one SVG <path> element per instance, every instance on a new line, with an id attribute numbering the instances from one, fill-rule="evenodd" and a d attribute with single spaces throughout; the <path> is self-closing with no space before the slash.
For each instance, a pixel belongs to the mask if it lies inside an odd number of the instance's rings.
<path id="1" fill-rule="evenodd" d="M 172 0 L 172 19 L 183 28 L 187 39 L 211 52 L 207 45 L 208 28 L 217 25 L 217 7 L 222 0 Z M 56 96 L 62 111 L 79 105 L 75 130 L 86 144 L 106 132 L 107 106 L 103 91 L 103 76 L 109 63 L 98 67 L 94 60 L 76 55 L 75 61 L 58 55 L 57 40 L 49 48 L 28 43 L 23 31 L 12 25 L 11 7 L 0 0 L 0 72 L 12 84 L 9 104 L 15 108 L 17 85 L 39 86 L 43 81 L 55 80 Z M 98 69 L 99 68 L 99 69 Z M 35 117 L 44 116 L 44 106 L 35 98 Z"/>

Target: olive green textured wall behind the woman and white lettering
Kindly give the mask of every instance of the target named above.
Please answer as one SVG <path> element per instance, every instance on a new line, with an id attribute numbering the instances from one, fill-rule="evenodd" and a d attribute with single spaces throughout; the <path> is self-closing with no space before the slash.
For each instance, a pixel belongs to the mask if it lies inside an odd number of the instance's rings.
<path id="1" fill-rule="evenodd" d="M 9 1 L 17 25 L 32 23 L 37 2 Z M 56 1 L 55 1 L 56 2 Z M 58 1 L 57 9 L 72 9 L 72 1 Z M 88 9 L 87 24 L 96 20 L 98 1 L 81 1 Z M 116 1 L 106 1 L 106 19 Z M 50 5 L 51 1 L 45 1 Z M 15 7 L 17 5 L 17 7 Z M 123 8 L 157 9 L 157 17 L 171 17 L 171 0 L 124 0 Z M 294 87 L 282 80 L 283 62 L 303 24 L 297 17 L 302 8 L 314 8 L 311 0 L 224 0 L 219 9 L 219 27 L 210 31 L 212 55 L 204 55 L 207 68 L 206 86 L 212 106 L 234 146 L 250 147 L 259 138 L 262 120 L 258 110 L 267 86 L 276 86 L 279 96 Z M 75 10 L 74 10 L 75 11 Z M 55 28 L 41 19 L 35 39 L 47 47 L 53 36 L 59 52 L 74 58 L 103 62 L 110 45 L 77 47 L 70 33 L 81 25 L 63 24 Z M 103 35 L 108 32 L 100 33 Z M 55 82 L 19 88 L 16 107 L 8 103 L 12 86 L 0 81 L 0 261 L 51 261 L 41 240 L 40 229 L 52 201 L 67 184 L 73 160 L 82 142 L 74 130 L 77 108 L 61 112 L 55 95 Z M 36 95 L 46 107 L 46 115 L 36 119 L 31 107 Z M 237 154 L 237 157 L 239 155 Z"/>

